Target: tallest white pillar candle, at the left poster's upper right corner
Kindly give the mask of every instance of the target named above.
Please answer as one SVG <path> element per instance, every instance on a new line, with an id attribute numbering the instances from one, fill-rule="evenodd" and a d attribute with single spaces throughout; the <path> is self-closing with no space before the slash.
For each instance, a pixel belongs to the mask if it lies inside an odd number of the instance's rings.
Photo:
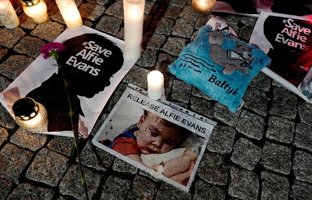
<path id="1" fill-rule="evenodd" d="M 145 0 L 123 0 L 125 55 L 129 59 L 141 56 Z"/>

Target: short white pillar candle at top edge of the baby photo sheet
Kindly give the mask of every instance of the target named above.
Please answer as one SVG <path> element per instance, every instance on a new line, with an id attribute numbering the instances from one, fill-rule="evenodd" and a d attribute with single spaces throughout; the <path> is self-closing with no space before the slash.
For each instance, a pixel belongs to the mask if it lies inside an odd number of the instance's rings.
<path id="1" fill-rule="evenodd" d="M 164 76 L 159 71 L 152 71 L 147 74 L 147 93 L 148 96 L 157 100 L 164 92 Z"/>

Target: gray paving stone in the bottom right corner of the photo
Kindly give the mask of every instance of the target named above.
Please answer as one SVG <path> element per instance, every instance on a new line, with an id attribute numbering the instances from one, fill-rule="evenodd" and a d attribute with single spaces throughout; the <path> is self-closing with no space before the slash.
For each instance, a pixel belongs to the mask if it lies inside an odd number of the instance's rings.
<path id="1" fill-rule="evenodd" d="M 292 194 L 294 200 L 311 200 L 312 197 L 312 185 L 294 181 L 292 183 Z"/>

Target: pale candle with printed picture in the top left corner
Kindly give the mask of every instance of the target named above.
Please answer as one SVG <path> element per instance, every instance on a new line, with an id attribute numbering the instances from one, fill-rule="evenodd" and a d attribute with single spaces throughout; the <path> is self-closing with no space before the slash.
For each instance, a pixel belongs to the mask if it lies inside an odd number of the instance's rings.
<path id="1" fill-rule="evenodd" d="M 20 25 L 20 20 L 9 0 L 0 0 L 0 21 L 8 29 L 13 29 Z"/>

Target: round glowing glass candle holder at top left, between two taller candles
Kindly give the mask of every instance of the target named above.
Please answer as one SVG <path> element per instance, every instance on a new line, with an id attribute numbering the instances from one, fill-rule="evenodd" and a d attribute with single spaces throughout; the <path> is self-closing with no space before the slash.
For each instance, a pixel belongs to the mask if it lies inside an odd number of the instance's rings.
<path id="1" fill-rule="evenodd" d="M 36 23 L 44 23 L 49 19 L 47 5 L 43 0 L 21 0 L 24 13 Z"/>

